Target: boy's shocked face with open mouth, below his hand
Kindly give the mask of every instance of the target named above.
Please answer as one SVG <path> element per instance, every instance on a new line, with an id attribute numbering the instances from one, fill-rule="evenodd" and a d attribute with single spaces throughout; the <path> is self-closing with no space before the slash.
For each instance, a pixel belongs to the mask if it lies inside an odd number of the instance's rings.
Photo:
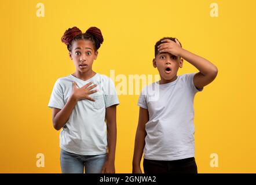
<path id="1" fill-rule="evenodd" d="M 153 59 L 153 67 L 158 68 L 159 75 L 165 80 L 171 80 L 177 76 L 178 68 L 182 68 L 183 60 L 170 53 L 159 53 Z"/>

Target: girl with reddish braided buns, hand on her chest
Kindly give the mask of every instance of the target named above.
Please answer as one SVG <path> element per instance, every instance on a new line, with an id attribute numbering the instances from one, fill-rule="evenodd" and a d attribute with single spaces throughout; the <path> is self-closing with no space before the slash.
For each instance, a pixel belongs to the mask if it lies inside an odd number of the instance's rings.
<path id="1" fill-rule="evenodd" d="M 103 43 L 100 29 L 85 33 L 76 27 L 64 32 L 76 71 L 54 84 L 49 107 L 53 127 L 60 132 L 63 173 L 115 173 L 116 105 L 112 80 L 93 71 L 93 61 Z M 105 120 L 107 125 L 105 124 Z"/>

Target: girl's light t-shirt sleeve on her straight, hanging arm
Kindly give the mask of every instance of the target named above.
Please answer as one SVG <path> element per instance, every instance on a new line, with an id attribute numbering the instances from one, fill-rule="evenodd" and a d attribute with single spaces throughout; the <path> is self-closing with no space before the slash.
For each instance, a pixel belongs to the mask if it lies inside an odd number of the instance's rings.
<path id="1" fill-rule="evenodd" d="M 106 108 L 112 105 L 119 105 L 118 94 L 116 93 L 115 84 L 111 78 L 107 79 L 107 83 L 105 85 L 107 85 L 104 92 Z"/>

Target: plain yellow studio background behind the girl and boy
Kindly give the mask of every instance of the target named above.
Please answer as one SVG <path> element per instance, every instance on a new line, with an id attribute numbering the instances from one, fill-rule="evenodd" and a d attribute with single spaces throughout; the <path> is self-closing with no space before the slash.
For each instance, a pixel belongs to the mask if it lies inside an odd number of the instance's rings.
<path id="1" fill-rule="evenodd" d="M 36 16 L 36 4 L 45 17 Z M 218 3 L 219 17 L 210 17 Z M 58 77 L 75 71 L 60 38 L 76 26 L 101 29 L 93 69 L 109 76 L 155 75 L 153 46 L 163 36 L 218 67 L 217 79 L 195 97 L 199 173 L 255 173 L 256 1 L 2 1 L 0 172 L 60 173 L 59 132 L 47 108 Z M 185 62 L 183 73 L 197 72 Z M 116 82 L 117 83 L 117 82 Z M 116 172 L 130 173 L 138 95 L 120 95 Z M 36 167 L 36 154 L 45 167 Z M 218 168 L 210 154 L 217 153 Z"/>

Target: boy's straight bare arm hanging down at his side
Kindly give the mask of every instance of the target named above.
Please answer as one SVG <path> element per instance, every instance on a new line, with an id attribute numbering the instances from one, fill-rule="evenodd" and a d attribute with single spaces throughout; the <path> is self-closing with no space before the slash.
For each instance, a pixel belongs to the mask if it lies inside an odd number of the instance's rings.
<path id="1" fill-rule="evenodd" d="M 145 146 L 145 137 L 147 135 L 147 132 L 145 131 L 145 124 L 148 123 L 148 120 L 148 109 L 140 107 L 140 113 L 138 116 L 138 127 L 134 143 L 133 173 L 142 173 L 140 168 L 140 162 L 143 154 L 143 149 Z"/>

